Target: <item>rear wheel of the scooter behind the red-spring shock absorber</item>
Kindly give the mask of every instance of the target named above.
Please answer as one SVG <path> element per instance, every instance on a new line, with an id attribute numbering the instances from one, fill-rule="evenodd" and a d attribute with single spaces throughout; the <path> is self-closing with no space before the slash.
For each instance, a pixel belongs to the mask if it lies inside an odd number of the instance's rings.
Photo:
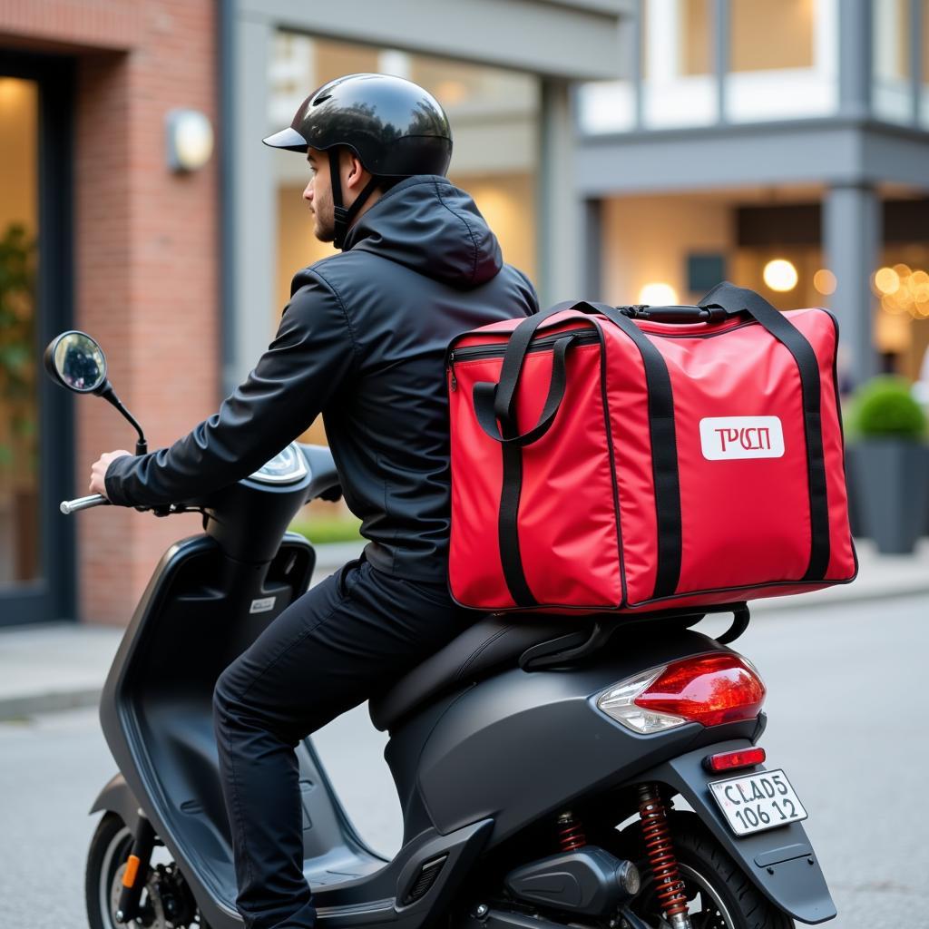
<path id="1" fill-rule="evenodd" d="M 767 899 L 692 813 L 669 817 L 674 854 L 685 883 L 693 929 L 793 929 L 792 919 Z M 633 912 L 648 925 L 659 925 L 660 910 L 641 831 L 623 831 L 635 848 L 642 890 Z"/>

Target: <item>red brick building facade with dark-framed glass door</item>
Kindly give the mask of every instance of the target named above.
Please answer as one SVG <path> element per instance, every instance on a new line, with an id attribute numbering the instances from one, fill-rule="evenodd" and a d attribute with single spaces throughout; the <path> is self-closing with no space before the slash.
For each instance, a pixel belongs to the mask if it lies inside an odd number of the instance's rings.
<path id="1" fill-rule="evenodd" d="M 61 330 L 95 335 L 153 448 L 216 408 L 217 166 L 182 175 L 164 156 L 169 111 L 217 119 L 216 49 L 212 0 L 0 3 L 0 624 L 125 623 L 169 541 L 198 528 L 59 514 L 135 434 L 40 359 Z"/>

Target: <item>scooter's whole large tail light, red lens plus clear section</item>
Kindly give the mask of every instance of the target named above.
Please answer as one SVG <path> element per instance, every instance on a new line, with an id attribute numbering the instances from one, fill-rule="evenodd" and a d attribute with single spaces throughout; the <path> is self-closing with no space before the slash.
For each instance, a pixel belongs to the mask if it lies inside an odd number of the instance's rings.
<path id="1" fill-rule="evenodd" d="M 765 685 L 751 662 L 719 651 L 627 678 L 601 693 L 596 705 L 623 726 L 650 733 L 754 719 L 764 702 Z"/>

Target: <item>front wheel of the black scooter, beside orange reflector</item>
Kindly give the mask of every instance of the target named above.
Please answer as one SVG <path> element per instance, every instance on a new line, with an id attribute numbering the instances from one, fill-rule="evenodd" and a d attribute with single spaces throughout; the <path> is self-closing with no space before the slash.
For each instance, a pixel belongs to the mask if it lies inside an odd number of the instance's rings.
<path id="1" fill-rule="evenodd" d="M 87 923 L 90 929 L 209 929 L 196 909 L 187 883 L 170 860 L 164 845 L 156 845 L 139 901 L 141 915 L 116 922 L 123 889 L 125 861 L 132 851 L 132 832 L 123 819 L 107 813 L 90 840 L 85 872 Z"/>

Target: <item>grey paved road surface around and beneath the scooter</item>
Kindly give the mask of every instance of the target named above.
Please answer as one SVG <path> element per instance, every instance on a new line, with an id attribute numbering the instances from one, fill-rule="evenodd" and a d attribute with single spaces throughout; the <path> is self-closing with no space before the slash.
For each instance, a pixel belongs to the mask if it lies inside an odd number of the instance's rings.
<path id="1" fill-rule="evenodd" d="M 763 744 L 810 811 L 842 929 L 929 925 L 929 598 L 768 612 L 739 641 L 768 685 Z M 349 814 L 382 851 L 399 805 L 363 710 L 318 737 Z M 0 925 L 85 929 L 86 810 L 113 773 L 95 713 L 0 724 Z"/>

